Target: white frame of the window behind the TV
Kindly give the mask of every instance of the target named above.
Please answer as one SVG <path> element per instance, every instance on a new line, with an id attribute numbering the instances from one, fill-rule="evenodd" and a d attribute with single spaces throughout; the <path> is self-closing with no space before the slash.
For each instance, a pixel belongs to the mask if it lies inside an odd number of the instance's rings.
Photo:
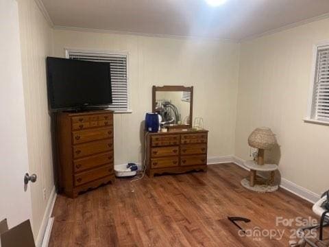
<path id="1" fill-rule="evenodd" d="M 129 52 L 128 51 L 103 51 L 103 50 L 95 50 L 95 49 L 75 49 L 75 48 L 64 48 L 64 57 L 70 58 L 70 52 L 86 52 L 93 54 L 108 54 L 108 55 L 124 55 L 127 56 L 127 110 L 114 110 L 114 113 L 132 113 L 132 108 L 130 105 L 130 67 L 129 67 Z"/>

